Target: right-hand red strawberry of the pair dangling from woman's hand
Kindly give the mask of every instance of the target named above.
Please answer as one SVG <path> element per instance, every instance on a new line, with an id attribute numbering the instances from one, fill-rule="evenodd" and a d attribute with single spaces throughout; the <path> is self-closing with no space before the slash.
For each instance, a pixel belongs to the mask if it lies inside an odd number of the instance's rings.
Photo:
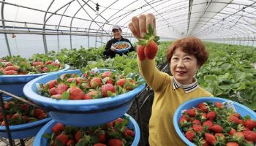
<path id="1" fill-rule="evenodd" d="M 157 54 L 157 43 L 154 42 L 154 40 L 151 40 L 148 42 L 148 45 L 144 48 L 144 54 L 146 55 L 146 58 L 153 59 Z"/>

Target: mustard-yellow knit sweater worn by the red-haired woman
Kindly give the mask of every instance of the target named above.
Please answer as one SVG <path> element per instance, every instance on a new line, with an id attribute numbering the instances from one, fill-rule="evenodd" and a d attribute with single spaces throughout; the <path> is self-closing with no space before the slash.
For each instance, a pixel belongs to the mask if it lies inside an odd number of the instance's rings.
<path id="1" fill-rule="evenodd" d="M 149 145 L 185 145 L 173 126 L 174 112 L 185 101 L 212 94 L 200 87 L 189 93 L 185 93 L 183 88 L 173 89 L 172 77 L 165 72 L 159 72 L 154 59 L 144 61 L 138 59 L 138 66 L 140 74 L 154 90 L 154 102 L 149 120 Z"/>

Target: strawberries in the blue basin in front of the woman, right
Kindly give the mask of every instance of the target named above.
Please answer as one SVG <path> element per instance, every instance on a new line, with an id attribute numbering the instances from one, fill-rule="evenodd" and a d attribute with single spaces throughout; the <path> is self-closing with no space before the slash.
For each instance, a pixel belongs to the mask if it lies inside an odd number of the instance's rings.
<path id="1" fill-rule="evenodd" d="M 254 146 L 256 142 L 255 120 L 248 115 L 241 117 L 220 102 L 203 102 L 187 110 L 179 126 L 195 145 Z"/>

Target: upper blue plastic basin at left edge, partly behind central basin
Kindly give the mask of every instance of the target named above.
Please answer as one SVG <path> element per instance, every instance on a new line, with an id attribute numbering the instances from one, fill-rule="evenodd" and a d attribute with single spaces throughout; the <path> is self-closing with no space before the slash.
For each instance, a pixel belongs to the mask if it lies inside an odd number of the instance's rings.
<path id="1" fill-rule="evenodd" d="M 67 71 L 68 65 L 65 65 L 64 69 L 57 72 Z M 43 74 L 24 74 L 24 75 L 2 75 L 0 76 L 0 89 L 14 94 L 15 96 L 24 96 L 23 87 L 27 82 L 34 78 L 40 77 L 45 74 L 52 74 L 53 72 L 47 72 Z M 7 96 L 6 96 L 7 97 Z"/>

